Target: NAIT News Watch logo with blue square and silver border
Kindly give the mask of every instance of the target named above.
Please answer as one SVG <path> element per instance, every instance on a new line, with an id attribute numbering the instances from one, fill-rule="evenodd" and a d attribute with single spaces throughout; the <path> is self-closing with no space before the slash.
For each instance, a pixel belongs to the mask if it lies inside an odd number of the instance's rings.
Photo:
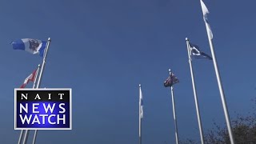
<path id="1" fill-rule="evenodd" d="M 71 130 L 71 89 L 14 89 L 14 130 Z"/>

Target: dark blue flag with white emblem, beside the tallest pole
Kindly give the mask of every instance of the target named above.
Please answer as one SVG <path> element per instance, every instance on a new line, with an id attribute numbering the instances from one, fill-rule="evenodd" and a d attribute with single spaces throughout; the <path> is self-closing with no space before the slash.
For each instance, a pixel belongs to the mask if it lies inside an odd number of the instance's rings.
<path id="1" fill-rule="evenodd" d="M 206 54 L 206 53 L 202 52 L 201 50 L 199 50 L 199 46 L 194 45 L 192 43 L 190 43 L 190 51 L 191 51 L 191 54 L 194 56 L 194 58 L 197 58 L 197 59 L 210 59 L 210 60 L 213 59 L 208 54 Z"/>

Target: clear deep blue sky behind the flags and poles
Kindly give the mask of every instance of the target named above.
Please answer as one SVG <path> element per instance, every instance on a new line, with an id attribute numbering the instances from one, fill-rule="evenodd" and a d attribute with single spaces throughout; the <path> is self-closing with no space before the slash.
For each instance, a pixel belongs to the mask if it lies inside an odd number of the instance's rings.
<path id="1" fill-rule="evenodd" d="M 205 0 L 230 118 L 247 114 L 255 98 L 255 2 Z M 199 0 L 75 0 L 0 2 L 0 141 L 18 142 L 14 88 L 42 62 L 12 50 L 18 38 L 52 38 L 42 87 L 73 89 L 73 130 L 40 130 L 38 144 L 138 143 L 138 84 L 142 141 L 174 143 L 168 69 L 179 136 L 199 140 L 186 42 L 210 54 Z M 203 130 L 224 125 L 213 62 L 194 60 Z M 31 84 L 28 86 L 31 87 Z M 32 133 L 30 134 L 30 136 Z"/>

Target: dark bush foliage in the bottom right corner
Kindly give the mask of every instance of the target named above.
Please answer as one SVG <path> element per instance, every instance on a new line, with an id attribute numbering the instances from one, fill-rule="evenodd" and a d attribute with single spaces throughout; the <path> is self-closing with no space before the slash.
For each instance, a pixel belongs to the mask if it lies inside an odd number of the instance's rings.
<path id="1" fill-rule="evenodd" d="M 254 100 L 256 104 L 256 99 Z M 253 107 L 253 113 L 247 116 L 237 115 L 231 121 L 232 132 L 236 144 L 256 144 L 256 109 Z M 215 128 L 208 130 L 205 134 L 205 144 L 230 144 L 230 137 L 225 127 L 214 123 Z M 201 142 L 187 139 L 181 144 L 198 144 Z"/>

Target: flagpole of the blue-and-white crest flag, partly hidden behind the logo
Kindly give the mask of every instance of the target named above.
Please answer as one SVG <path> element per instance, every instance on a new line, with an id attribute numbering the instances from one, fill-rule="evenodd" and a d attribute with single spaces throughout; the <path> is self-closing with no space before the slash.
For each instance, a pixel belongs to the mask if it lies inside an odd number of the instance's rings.
<path id="1" fill-rule="evenodd" d="M 43 71 L 44 71 L 44 68 L 45 68 L 45 65 L 46 65 L 46 56 L 47 56 L 47 52 L 48 52 L 48 49 L 49 49 L 49 46 L 50 46 L 50 38 L 48 38 L 48 42 L 47 42 L 47 46 L 46 46 L 46 50 L 44 51 L 44 54 L 43 54 L 43 60 L 42 60 L 42 69 L 40 71 L 40 75 L 39 75 L 39 78 L 38 78 L 38 85 L 37 85 L 37 89 L 40 87 L 41 85 L 41 78 L 42 78 L 42 74 L 43 74 Z M 35 144 L 35 141 L 36 141 L 36 138 L 37 138 L 37 135 L 38 135 L 38 130 L 34 130 L 34 138 L 33 138 L 33 144 Z"/>

